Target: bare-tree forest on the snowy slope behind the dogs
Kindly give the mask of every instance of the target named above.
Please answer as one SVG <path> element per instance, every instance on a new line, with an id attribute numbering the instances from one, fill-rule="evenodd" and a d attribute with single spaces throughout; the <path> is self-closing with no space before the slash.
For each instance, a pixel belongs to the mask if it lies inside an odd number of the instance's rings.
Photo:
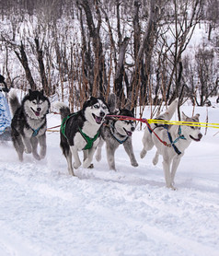
<path id="1" fill-rule="evenodd" d="M 0 15 L 6 83 L 72 111 L 110 91 L 129 109 L 218 94 L 217 0 L 1 0 Z M 197 29 L 206 36 L 191 49 Z"/>

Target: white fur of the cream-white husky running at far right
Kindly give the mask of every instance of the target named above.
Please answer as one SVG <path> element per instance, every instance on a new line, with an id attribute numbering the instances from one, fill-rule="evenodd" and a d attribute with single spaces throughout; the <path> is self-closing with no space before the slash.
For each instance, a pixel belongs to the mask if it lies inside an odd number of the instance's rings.
<path id="1" fill-rule="evenodd" d="M 177 109 L 178 99 L 172 102 L 167 111 L 157 116 L 156 119 L 162 120 L 170 120 Z M 182 122 L 199 122 L 199 114 L 196 114 L 194 117 L 190 118 L 186 116 L 182 112 Z M 179 128 L 180 127 L 180 128 Z M 184 136 L 179 138 L 174 145 L 179 149 L 178 154 L 174 147 L 171 145 L 170 147 L 162 144 L 156 137 L 156 135 L 149 132 L 149 129 L 145 127 L 144 137 L 143 137 L 143 145 L 144 148 L 141 152 L 141 157 L 143 158 L 146 155 L 148 150 L 151 150 L 154 145 L 156 145 L 156 156 L 153 159 L 153 164 L 156 165 L 158 162 L 159 155 L 163 157 L 163 169 L 165 174 L 165 180 L 167 188 L 171 188 L 175 190 L 174 187 L 174 178 L 176 171 L 179 167 L 179 162 L 181 157 L 184 155 L 185 149 L 190 145 L 191 141 L 200 141 L 202 138 L 202 134 L 200 132 L 200 127 L 198 126 L 189 126 L 189 125 L 168 125 L 165 127 L 162 124 L 151 124 L 151 128 L 154 132 L 159 136 L 162 141 L 170 143 L 167 132 L 171 135 L 172 141 L 175 142 L 179 135 Z M 171 168 L 170 168 L 171 167 Z M 170 171 L 171 169 L 171 171 Z"/>

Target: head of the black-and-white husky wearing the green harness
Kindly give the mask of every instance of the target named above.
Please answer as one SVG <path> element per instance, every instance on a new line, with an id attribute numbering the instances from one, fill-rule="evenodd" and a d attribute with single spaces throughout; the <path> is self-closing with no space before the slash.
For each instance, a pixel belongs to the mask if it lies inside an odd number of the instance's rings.
<path id="1" fill-rule="evenodd" d="M 100 125 L 109 114 L 109 107 L 104 99 L 90 97 L 83 105 L 83 113 L 88 122 Z"/>

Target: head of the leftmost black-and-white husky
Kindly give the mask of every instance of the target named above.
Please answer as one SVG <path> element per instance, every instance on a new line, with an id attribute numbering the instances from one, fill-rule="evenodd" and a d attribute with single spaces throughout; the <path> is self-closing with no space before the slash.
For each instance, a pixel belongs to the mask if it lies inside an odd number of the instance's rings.
<path id="1" fill-rule="evenodd" d="M 41 119 L 50 109 L 50 101 L 44 96 L 43 90 L 29 89 L 29 94 L 22 100 L 24 111 L 31 119 Z"/>

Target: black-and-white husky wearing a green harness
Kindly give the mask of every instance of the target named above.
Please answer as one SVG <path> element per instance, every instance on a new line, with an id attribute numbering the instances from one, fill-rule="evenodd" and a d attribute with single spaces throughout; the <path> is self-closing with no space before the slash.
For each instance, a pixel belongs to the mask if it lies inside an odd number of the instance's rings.
<path id="1" fill-rule="evenodd" d="M 70 175 L 75 175 L 74 169 L 81 166 L 78 151 L 84 151 L 83 167 L 88 168 L 92 162 L 99 141 L 99 129 L 109 113 L 107 103 L 101 98 L 90 97 L 81 111 L 70 114 L 70 110 L 61 102 L 55 107 L 60 110 L 61 148 L 66 157 Z M 72 166 L 72 155 L 74 164 Z"/>

